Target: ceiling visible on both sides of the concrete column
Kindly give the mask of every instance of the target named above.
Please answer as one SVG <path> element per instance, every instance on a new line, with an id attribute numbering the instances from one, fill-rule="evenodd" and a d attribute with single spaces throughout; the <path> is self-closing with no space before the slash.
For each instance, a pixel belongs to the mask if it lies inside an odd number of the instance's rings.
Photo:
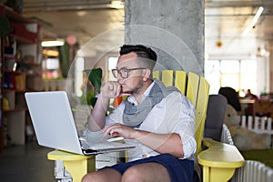
<path id="1" fill-rule="evenodd" d="M 113 1 L 114 2 L 114 1 Z M 35 16 L 45 23 L 45 38 L 76 35 L 78 43 L 85 45 L 91 38 L 106 31 L 121 28 L 125 13 L 110 0 L 25 0 L 23 14 Z M 264 11 L 248 35 L 242 35 L 252 18 L 263 6 Z M 116 31 L 112 41 L 123 44 L 123 31 Z M 206 54 L 214 58 L 249 58 L 257 56 L 258 48 L 272 51 L 272 0 L 205 0 Z M 110 43 L 109 43 L 110 44 Z M 97 46 L 96 51 L 105 47 Z"/>

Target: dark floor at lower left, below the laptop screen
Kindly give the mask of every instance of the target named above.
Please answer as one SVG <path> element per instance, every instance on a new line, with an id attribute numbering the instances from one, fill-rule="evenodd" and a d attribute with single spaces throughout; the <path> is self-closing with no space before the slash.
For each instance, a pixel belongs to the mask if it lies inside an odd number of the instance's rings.
<path id="1" fill-rule="evenodd" d="M 7 147 L 0 153 L 1 182 L 56 182 L 54 161 L 46 159 L 52 149 L 35 142 Z"/>

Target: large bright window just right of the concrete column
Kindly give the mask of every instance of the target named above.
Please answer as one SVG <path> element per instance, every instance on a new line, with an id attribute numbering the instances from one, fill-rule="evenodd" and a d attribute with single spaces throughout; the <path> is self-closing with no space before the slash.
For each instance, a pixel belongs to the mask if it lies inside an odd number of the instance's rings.
<path id="1" fill-rule="evenodd" d="M 256 60 L 207 60 L 205 77 L 210 84 L 210 94 L 217 94 L 221 86 L 258 92 Z"/>

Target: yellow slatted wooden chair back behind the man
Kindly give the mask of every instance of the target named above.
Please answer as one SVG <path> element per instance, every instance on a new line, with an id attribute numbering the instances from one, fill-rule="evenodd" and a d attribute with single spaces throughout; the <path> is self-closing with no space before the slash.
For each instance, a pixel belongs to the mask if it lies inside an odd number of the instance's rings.
<path id="1" fill-rule="evenodd" d="M 202 76 L 197 76 L 195 73 L 189 72 L 187 74 L 185 71 L 180 70 L 163 70 L 161 75 L 159 71 L 154 71 L 153 77 L 161 80 L 165 86 L 176 86 L 196 107 L 195 137 L 197 140 L 196 154 L 198 154 L 202 150 L 201 143 L 207 113 L 209 85 L 206 79 Z"/>

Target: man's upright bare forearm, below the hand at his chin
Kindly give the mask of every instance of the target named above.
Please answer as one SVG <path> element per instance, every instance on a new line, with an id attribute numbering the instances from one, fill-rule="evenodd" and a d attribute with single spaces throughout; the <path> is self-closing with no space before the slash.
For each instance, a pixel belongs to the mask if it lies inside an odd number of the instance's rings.
<path id="1" fill-rule="evenodd" d="M 99 131 L 106 124 L 106 108 L 108 106 L 109 99 L 99 95 L 96 100 L 96 105 L 91 111 L 91 115 L 88 119 L 88 129 L 90 131 Z"/>

